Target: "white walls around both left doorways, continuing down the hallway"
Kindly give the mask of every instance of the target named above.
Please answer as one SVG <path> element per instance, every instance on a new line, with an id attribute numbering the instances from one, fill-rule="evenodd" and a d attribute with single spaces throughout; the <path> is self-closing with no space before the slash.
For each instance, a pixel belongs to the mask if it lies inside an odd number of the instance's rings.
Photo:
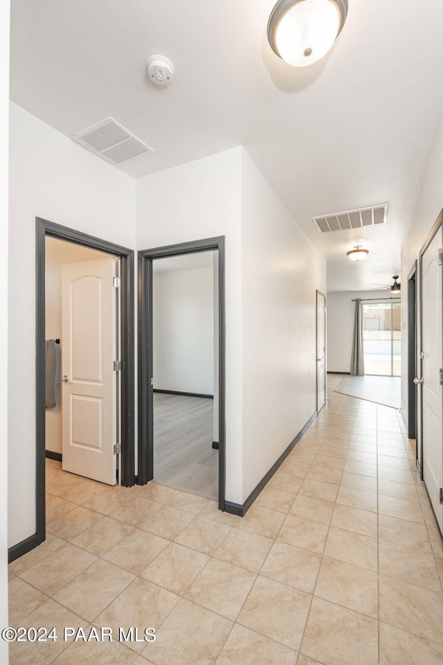
<path id="1" fill-rule="evenodd" d="M 226 499 L 244 502 L 315 411 L 323 261 L 240 147 L 134 182 L 10 109 L 10 545 L 35 532 L 36 215 L 127 247 L 136 229 L 138 249 L 226 237 Z"/>

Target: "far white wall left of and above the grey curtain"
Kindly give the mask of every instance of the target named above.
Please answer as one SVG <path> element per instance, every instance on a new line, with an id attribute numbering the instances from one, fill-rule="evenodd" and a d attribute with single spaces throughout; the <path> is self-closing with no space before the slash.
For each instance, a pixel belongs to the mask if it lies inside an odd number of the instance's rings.
<path id="1" fill-rule="evenodd" d="M 349 372 L 356 298 L 390 298 L 390 290 L 336 291 L 326 297 L 326 369 L 328 372 Z"/>

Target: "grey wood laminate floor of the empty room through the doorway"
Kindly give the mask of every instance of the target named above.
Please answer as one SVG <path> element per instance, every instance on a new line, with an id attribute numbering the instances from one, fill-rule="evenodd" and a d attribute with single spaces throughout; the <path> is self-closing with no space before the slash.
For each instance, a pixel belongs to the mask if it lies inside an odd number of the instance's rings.
<path id="1" fill-rule="evenodd" d="M 154 479 L 216 499 L 218 450 L 213 450 L 214 400 L 154 393 Z"/>

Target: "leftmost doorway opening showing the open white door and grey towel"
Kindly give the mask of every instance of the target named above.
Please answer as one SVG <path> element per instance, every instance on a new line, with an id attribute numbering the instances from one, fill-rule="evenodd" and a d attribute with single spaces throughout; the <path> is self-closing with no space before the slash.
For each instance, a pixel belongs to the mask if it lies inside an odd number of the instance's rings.
<path id="1" fill-rule="evenodd" d="M 64 471 L 115 485 L 119 260 L 51 237 L 45 254 L 46 457 Z"/>

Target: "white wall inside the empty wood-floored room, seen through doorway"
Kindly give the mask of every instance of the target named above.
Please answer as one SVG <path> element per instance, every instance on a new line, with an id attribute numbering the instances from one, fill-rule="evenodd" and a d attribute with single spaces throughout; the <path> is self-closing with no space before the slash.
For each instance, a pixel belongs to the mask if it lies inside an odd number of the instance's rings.
<path id="1" fill-rule="evenodd" d="M 154 389 L 213 395 L 213 267 L 154 272 Z"/>

